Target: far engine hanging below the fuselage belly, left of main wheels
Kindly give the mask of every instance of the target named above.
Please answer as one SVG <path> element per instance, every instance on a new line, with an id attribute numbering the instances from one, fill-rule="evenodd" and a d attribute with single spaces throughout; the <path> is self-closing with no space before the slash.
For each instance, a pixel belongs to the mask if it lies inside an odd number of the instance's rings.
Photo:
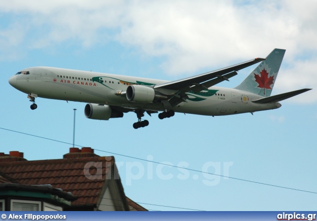
<path id="1" fill-rule="evenodd" d="M 107 105 L 87 104 L 85 106 L 85 116 L 89 119 L 108 120 L 109 118 L 123 117 L 123 113 L 112 110 Z"/>

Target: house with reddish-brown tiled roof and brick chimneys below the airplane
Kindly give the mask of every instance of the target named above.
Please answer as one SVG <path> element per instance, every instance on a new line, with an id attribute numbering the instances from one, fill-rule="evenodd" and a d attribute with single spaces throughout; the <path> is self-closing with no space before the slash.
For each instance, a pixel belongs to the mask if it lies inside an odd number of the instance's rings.
<path id="1" fill-rule="evenodd" d="M 70 148 L 63 159 L 27 161 L 23 155 L 18 151 L 0 153 L 3 210 L 12 210 L 12 200 L 19 200 L 40 202 L 42 210 L 50 204 L 63 211 L 147 211 L 125 196 L 114 157 L 98 156 L 89 147 Z M 3 195 L 8 188 L 24 188 L 29 191 L 28 197 Z M 44 192 L 55 193 L 51 197 L 62 198 L 60 201 L 65 203 L 33 197 Z"/>

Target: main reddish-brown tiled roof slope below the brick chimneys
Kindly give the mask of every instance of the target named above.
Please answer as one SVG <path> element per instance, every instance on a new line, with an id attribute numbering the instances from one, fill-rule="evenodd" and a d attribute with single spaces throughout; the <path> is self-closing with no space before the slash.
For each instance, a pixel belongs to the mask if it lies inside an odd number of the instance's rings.
<path id="1" fill-rule="evenodd" d="M 87 174 L 96 174 L 97 168 L 88 169 L 85 165 L 89 162 L 101 162 L 102 179 L 89 179 Z M 87 166 L 86 166 L 87 167 Z M 106 175 L 111 174 L 114 168 L 113 157 L 84 157 L 58 160 L 0 162 L 0 173 L 10 177 L 16 183 L 25 185 L 51 184 L 53 188 L 61 188 L 71 192 L 78 199 L 72 205 L 97 204 L 101 192 L 106 184 Z M 113 172 L 112 172 L 113 173 Z M 5 180 L 4 180 L 5 181 Z M 9 180 L 7 180 L 9 181 Z M 123 187 L 120 179 L 114 180 L 119 187 Z M 124 193 L 123 193 L 124 194 Z"/>

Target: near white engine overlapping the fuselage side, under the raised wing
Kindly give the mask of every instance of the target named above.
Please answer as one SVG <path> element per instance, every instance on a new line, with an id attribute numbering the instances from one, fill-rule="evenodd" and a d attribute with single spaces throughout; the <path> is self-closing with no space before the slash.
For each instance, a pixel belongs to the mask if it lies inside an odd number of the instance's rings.
<path id="1" fill-rule="evenodd" d="M 134 102 L 153 102 L 155 91 L 153 88 L 143 85 L 130 85 L 126 91 L 128 101 Z"/>

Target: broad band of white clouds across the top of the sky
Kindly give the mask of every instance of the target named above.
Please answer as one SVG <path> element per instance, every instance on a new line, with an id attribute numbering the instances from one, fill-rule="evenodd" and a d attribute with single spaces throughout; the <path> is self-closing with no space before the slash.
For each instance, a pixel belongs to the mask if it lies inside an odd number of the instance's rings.
<path id="1" fill-rule="evenodd" d="M 283 48 L 287 75 L 277 81 L 289 91 L 317 86 L 316 11 L 317 2 L 309 0 L 10 0 L 0 2 L 0 13 L 12 19 L 0 30 L 0 46 L 14 57 L 24 45 L 33 50 L 72 42 L 89 48 L 114 40 L 165 57 L 162 67 L 174 75 Z"/>

